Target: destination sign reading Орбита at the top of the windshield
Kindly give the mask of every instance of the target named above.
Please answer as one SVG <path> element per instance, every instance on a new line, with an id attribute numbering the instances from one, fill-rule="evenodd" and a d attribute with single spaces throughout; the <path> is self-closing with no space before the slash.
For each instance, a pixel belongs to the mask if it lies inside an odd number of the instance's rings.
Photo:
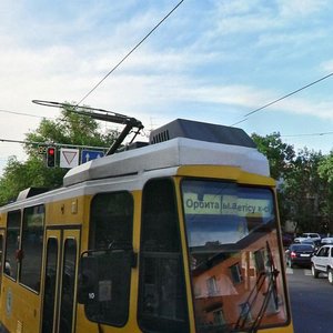
<path id="1" fill-rule="evenodd" d="M 202 200 L 199 200 L 195 193 L 184 193 L 184 209 L 186 214 L 269 218 L 272 214 L 272 202 L 264 199 L 210 194 L 205 194 Z"/>

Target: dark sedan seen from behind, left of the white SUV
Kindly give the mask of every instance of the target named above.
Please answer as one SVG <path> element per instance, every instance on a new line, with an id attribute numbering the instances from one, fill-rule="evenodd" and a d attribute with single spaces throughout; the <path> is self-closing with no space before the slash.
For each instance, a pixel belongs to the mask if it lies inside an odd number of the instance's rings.
<path id="1" fill-rule="evenodd" d="M 311 266 L 311 258 L 315 253 L 312 244 L 293 243 L 285 251 L 286 265 L 293 268 L 297 265 Z"/>

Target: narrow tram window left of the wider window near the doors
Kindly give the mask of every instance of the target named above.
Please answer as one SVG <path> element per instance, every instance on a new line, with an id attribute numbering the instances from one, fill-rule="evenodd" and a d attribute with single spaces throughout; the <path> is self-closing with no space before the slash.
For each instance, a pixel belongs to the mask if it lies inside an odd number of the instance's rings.
<path id="1" fill-rule="evenodd" d="M 21 226 L 21 212 L 8 212 L 7 216 L 7 236 L 6 236 L 6 259 L 3 272 L 6 275 L 17 280 L 18 263 L 17 252 L 20 245 L 20 226 Z"/>

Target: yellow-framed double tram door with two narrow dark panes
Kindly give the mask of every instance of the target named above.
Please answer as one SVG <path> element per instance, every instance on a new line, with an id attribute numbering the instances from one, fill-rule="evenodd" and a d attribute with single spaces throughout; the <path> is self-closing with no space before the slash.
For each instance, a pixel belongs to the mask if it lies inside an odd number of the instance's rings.
<path id="1" fill-rule="evenodd" d="M 47 231 L 42 333 L 74 331 L 79 238 L 79 230 Z"/>

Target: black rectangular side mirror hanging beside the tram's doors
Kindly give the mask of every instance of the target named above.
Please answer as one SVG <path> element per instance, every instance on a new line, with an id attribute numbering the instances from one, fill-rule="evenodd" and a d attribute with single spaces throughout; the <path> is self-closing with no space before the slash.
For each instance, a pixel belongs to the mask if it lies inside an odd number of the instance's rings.
<path id="1" fill-rule="evenodd" d="M 95 256 L 82 256 L 78 280 L 78 302 L 89 304 L 98 301 L 98 259 Z"/>

